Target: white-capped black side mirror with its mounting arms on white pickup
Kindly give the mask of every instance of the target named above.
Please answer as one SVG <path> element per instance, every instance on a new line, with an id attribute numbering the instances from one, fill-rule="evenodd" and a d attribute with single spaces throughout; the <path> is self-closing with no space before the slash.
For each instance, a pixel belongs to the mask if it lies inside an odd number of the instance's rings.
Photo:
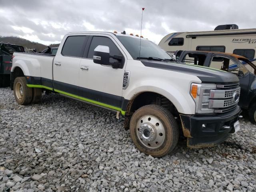
<path id="1" fill-rule="evenodd" d="M 112 68 L 120 68 L 121 62 L 110 63 L 109 62 L 110 58 L 113 58 L 118 61 L 122 61 L 122 56 L 120 56 L 120 55 L 111 56 L 109 54 L 108 46 L 98 45 L 94 49 L 94 54 L 93 54 L 93 62 L 94 63 L 101 64 L 101 65 L 111 65 Z"/>

